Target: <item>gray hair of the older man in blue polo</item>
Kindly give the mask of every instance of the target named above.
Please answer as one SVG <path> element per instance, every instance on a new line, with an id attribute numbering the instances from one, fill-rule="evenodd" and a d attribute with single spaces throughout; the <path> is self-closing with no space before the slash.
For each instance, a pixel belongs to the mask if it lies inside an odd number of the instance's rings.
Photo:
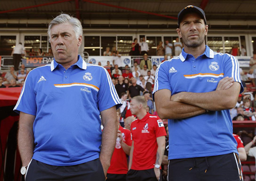
<path id="1" fill-rule="evenodd" d="M 81 22 L 79 21 L 79 19 L 73 17 L 73 16 L 69 16 L 67 14 L 60 14 L 59 16 L 57 16 L 56 18 L 54 18 L 50 23 L 49 23 L 49 27 L 48 27 L 48 35 L 49 35 L 49 41 L 51 40 L 51 29 L 54 25 L 60 25 L 61 23 L 70 23 L 74 29 L 74 32 L 76 34 L 76 38 L 78 40 L 78 38 L 81 36 L 83 36 L 83 27 L 81 25 Z"/>

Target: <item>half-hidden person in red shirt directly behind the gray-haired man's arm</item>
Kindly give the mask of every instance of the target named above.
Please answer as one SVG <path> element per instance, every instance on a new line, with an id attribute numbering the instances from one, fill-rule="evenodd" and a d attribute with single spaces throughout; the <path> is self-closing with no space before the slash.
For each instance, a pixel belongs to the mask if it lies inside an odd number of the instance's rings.
<path id="1" fill-rule="evenodd" d="M 121 117 L 121 113 L 119 108 L 117 110 L 118 121 L 120 117 Z M 130 154 L 130 150 L 132 146 L 131 131 L 119 125 L 117 139 L 120 139 L 121 145 L 118 145 L 118 143 L 115 145 L 115 149 L 110 162 L 110 167 L 107 172 L 107 178 L 108 180 L 125 181 L 126 174 L 128 171 L 126 155 Z"/>

